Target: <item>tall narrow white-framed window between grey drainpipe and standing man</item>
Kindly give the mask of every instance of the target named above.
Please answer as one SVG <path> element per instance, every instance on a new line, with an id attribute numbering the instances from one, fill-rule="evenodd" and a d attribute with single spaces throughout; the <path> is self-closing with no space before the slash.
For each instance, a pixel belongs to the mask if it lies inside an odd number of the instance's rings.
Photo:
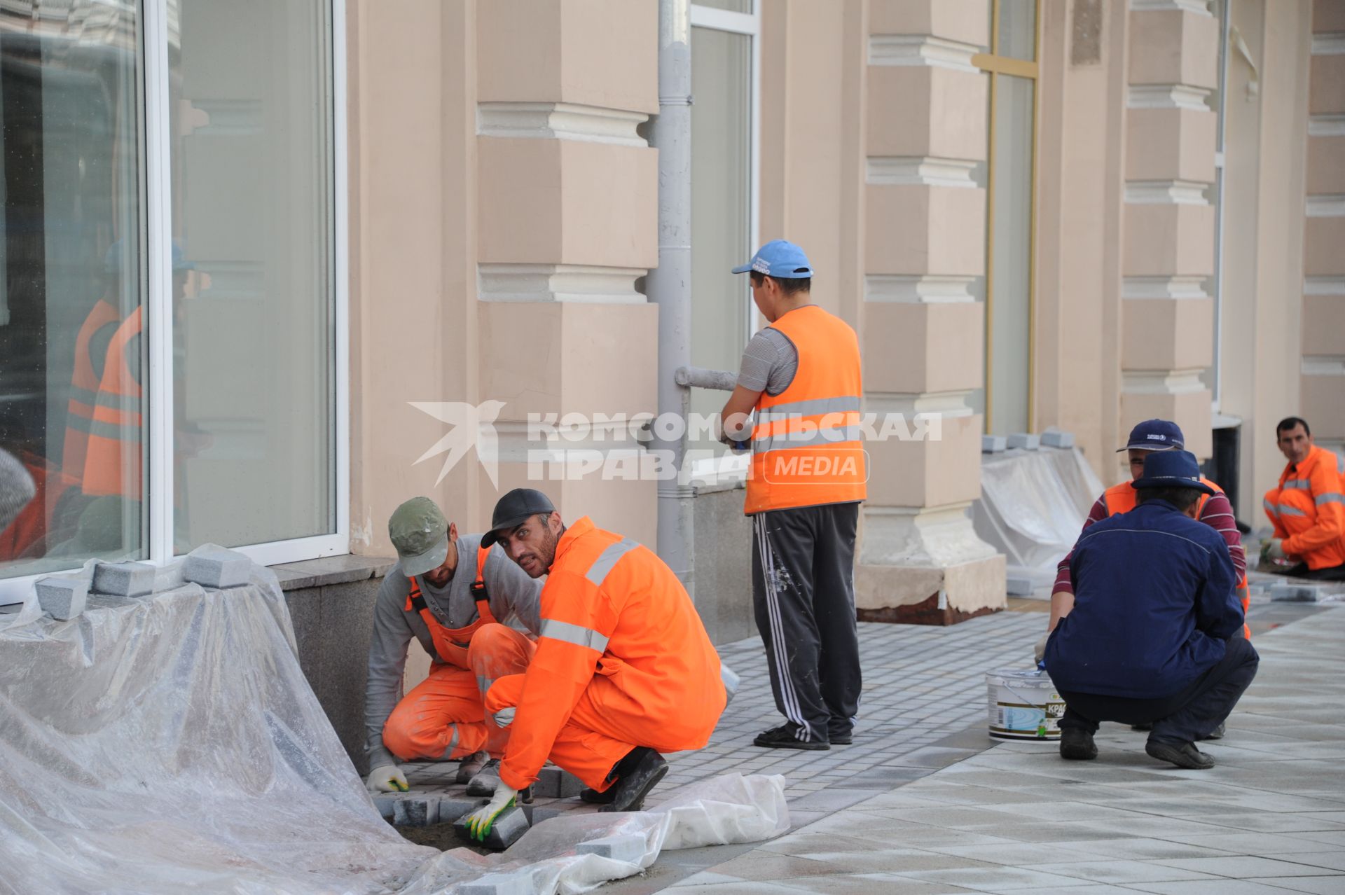
<path id="1" fill-rule="evenodd" d="M 745 275 L 729 273 L 756 239 L 755 40 L 749 0 L 691 7 L 691 363 L 737 371 L 755 312 Z M 691 390 L 691 413 L 716 414 L 728 392 Z M 693 450 L 722 454 L 702 435 Z"/>

